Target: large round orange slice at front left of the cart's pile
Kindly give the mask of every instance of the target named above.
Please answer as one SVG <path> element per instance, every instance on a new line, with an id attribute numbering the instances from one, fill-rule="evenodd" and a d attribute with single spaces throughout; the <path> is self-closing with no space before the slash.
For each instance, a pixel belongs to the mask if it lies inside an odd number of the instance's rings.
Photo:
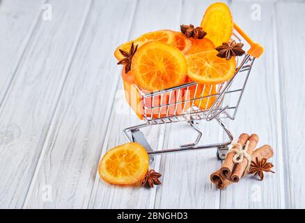
<path id="1" fill-rule="evenodd" d="M 132 58 L 132 74 L 140 89 L 167 89 L 185 82 L 187 63 L 179 49 L 166 43 L 148 42 Z"/>

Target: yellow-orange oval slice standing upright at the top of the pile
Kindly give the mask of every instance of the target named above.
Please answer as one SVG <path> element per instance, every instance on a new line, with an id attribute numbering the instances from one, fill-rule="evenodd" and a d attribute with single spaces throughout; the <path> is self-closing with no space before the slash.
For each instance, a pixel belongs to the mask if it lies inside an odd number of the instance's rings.
<path id="1" fill-rule="evenodd" d="M 225 3 L 217 2 L 205 10 L 201 27 L 207 32 L 206 38 L 210 39 L 215 47 L 230 40 L 233 33 L 233 17 Z"/>

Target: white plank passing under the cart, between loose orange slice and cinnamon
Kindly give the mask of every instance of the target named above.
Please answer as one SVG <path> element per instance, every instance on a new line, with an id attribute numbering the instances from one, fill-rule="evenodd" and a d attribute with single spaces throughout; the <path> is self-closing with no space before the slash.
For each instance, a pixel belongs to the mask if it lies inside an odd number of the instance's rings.
<path id="1" fill-rule="evenodd" d="M 200 25 L 212 1 L 185 1 L 179 24 Z M 179 24 L 175 30 L 179 30 Z M 215 121 L 201 121 L 203 139 L 199 144 L 219 143 L 222 131 Z M 196 132 L 187 123 L 166 127 L 164 148 L 177 148 L 194 141 Z M 163 183 L 157 188 L 155 208 L 219 208 L 220 192 L 210 183 L 210 174 L 221 167 L 216 149 L 162 155 Z"/>

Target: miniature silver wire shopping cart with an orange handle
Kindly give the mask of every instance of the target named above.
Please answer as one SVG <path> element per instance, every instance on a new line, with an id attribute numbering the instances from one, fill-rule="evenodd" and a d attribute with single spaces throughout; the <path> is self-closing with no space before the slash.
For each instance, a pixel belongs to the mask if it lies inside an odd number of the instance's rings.
<path id="1" fill-rule="evenodd" d="M 250 45 L 250 49 L 247 54 L 244 54 L 242 61 L 238 63 L 237 61 L 237 68 L 235 69 L 235 73 L 231 79 L 227 82 L 221 84 L 215 84 L 217 91 L 216 93 L 211 93 L 212 85 L 210 85 L 210 92 L 208 95 L 204 95 L 205 86 L 201 90 L 200 97 L 198 97 L 196 91 L 199 89 L 198 84 L 196 82 L 190 82 L 187 84 L 181 84 L 180 86 L 175 86 L 169 89 L 164 89 L 162 91 L 154 91 L 152 93 L 146 93 L 145 91 L 141 91 L 137 86 L 137 90 L 141 93 L 142 97 L 142 107 L 143 107 L 143 120 L 146 123 L 141 125 L 135 125 L 130 128 L 125 128 L 123 130 L 123 134 L 125 135 L 127 141 L 134 141 L 142 144 L 146 150 L 148 151 L 148 155 L 150 155 L 150 161 L 153 161 L 153 155 L 159 155 L 164 153 L 176 153 L 182 151 L 194 151 L 198 149 L 208 149 L 208 148 L 217 148 L 217 157 L 223 160 L 226 157 L 226 153 L 228 151 L 228 146 L 233 141 L 233 134 L 228 130 L 226 125 L 224 124 L 223 119 L 229 118 L 230 120 L 234 120 L 237 109 L 240 105 L 240 101 L 242 99 L 242 95 L 244 93 L 245 86 L 247 85 L 247 81 L 249 79 L 249 75 L 251 72 L 251 68 L 253 66 L 253 62 L 256 58 L 258 58 L 261 54 L 263 54 L 263 47 L 261 47 L 258 43 L 254 43 L 245 33 L 240 29 L 237 24 L 234 24 L 234 33 L 232 36 L 232 40 L 236 42 L 241 42 L 240 36 L 247 41 Z M 239 35 L 238 35 L 239 34 Z M 247 72 L 244 75 L 244 82 L 242 83 L 242 87 L 238 89 L 232 89 L 231 86 L 236 79 L 237 76 L 241 72 Z M 240 74 L 241 75 L 241 74 Z M 207 86 L 208 87 L 208 86 Z M 174 100 L 171 102 L 171 95 L 179 95 L 182 90 L 184 90 L 184 95 L 190 92 L 190 89 L 195 89 L 195 93 L 193 93 L 191 98 L 183 99 L 183 100 Z M 227 95 L 238 93 L 237 102 L 233 106 L 224 105 L 224 99 Z M 190 93 L 189 93 L 190 94 Z M 165 103 L 162 103 L 162 98 L 169 97 Z M 154 105 L 152 101 L 154 98 L 161 98 L 161 102 L 158 105 Z M 179 98 L 179 97 L 178 97 Z M 212 105 L 209 105 L 209 100 L 214 98 L 214 102 Z M 215 99 L 216 98 L 216 99 Z M 147 99 L 150 99 L 150 103 L 147 103 Z M 194 106 L 194 102 L 200 101 L 198 107 Z M 205 107 L 201 107 L 201 102 L 205 101 Z M 185 109 L 185 104 L 189 103 L 189 109 Z M 149 104 L 149 105 L 148 105 Z M 179 114 L 176 112 L 178 105 L 183 107 L 182 112 Z M 174 112 L 173 114 L 169 114 L 169 109 L 173 107 Z M 231 112 L 228 112 L 228 111 Z M 158 113 L 154 114 L 154 111 Z M 162 111 L 166 112 L 166 114 L 162 114 Z M 203 136 L 203 131 L 198 128 L 198 121 L 212 121 L 215 120 L 219 124 L 219 126 L 224 130 L 226 133 L 228 140 L 216 143 L 216 144 L 205 144 L 205 145 L 198 145 L 201 137 Z M 189 123 L 191 128 L 197 132 L 197 137 L 194 142 L 186 145 L 180 145 L 177 148 L 168 148 L 159 151 L 154 151 L 148 141 L 144 137 L 143 133 L 141 132 L 142 128 L 146 128 L 152 125 L 159 125 L 165 123 L 175 123 L 180 121 L 186 121 Z"/>

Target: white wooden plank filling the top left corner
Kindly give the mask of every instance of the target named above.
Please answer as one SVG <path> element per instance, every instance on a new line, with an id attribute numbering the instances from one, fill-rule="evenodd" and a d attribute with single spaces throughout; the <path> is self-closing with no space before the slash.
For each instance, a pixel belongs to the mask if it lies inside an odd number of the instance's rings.
<path id="1" fill-rule="evenodd" d="M 0 3 L 0 105 L 33 33 L 42 2 L 12 0 Z"/>

